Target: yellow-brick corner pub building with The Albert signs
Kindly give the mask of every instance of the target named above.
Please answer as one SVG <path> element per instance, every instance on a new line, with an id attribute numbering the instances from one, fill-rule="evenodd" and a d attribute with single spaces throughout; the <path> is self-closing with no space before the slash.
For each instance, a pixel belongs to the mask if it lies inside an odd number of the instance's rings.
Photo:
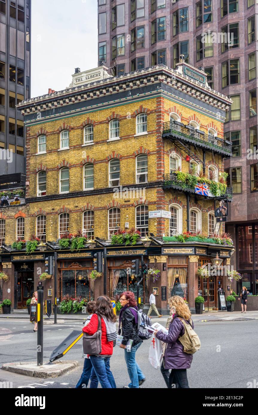
<path id="1" fill-rule="evenodd" d="M 214 231 L 216 197 L 195 193 L 182 174 L 189 168 L 191 177 L 203 171 L 218 183 L 224 159 L 231 156 L 231 143 L 224 140 L 231 100 L 211 90 L 204 71 L 183 59 L 176 70 L 157 65 L 112 77 L 106 69 L 77 68 L 66 90 L 19 105 L 26 126 L 26 200 L 0 207 L 8 230 L 1 267 L 9 276 L 0 295 L 11 299 L 13 308 L 24 308 L 44 271 L 44 255 L 53 251 L 60 299 L 66 294 L 113 297 L 125 289 L 136 295 L 138 277 L 129 270 L 132 260 L 143 256 L 161 271 L 158 281 L 145 278 L 140 286 L 143 306 L 157 287 L 163 314 L 170 295 L 182 295 L 194 310 L 198 290 L 206 307 L 218 308 L 217 289 L 226 290 L 228 278 L 204 281 L 197 268 L 217 253 L 227 264 L 233 247 L 211 238 L 179 242 L 176 235 L 201 230 L 211 237 Z M 221 196 L 231 200 L 232 189 Z M 149 247 L 141 239 L 133 246 L 112 244 L 114 232 L 131 227 L 150 237 Z M 61 247 L 59 238 L 78 229 L 94 239 L 93 246 Z M 47 244 L 47 253 L 11 247 L 31 234 Z M 92 281 L 88 276 L 97 251 L 104 253 L 104 273 Z M 43 285 L 44 299 L 54 301 L 54 280 Z"/>

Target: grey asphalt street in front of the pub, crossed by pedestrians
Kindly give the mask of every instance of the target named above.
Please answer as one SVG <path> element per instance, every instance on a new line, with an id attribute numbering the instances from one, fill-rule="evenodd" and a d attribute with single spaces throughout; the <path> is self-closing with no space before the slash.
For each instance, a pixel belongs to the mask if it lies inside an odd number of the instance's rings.
<path id="1" fill-rule="evenodd" d="M 153 319 L 153 322 L 159 319 Z M 159 322 L 161 322 L 159 320 Z M 165 319 L 162 319 L 165 325 Z M 44 363 L 49 361 L 53 349 L 72 331 L 80 330 L 82 322 L 67 321 L 64 324 L 44 325 Z M 188 370 L 190 388 L 247 388 L 248 382 L 257 378 L 258 320 L 195 322 L 195 330 L 201 339 L 201 350 L 194 354 Z M 36 361 L 37 333 L 33 325 L 24 320 L 0 320 L 0 367 L 4 363 Z M 148 362 L 150 340 L 145 340 L 138 350 L 140 364 L 146 382 L 143 388 L 166 388 L 160 370 Z M 39 379 L 12 374 L 0 369 L 0 381 L 12 382 L 13 388 L 74 388 L 83 366 L 81 340 L 62 358 L 76 360 L 79 368 L 59 378 Z M 243 359 L 249 364 L 243 364 Z M 124 361 L 124 351 L 114 348 L 111 370 L 118 388 L 129 383 Z"/>

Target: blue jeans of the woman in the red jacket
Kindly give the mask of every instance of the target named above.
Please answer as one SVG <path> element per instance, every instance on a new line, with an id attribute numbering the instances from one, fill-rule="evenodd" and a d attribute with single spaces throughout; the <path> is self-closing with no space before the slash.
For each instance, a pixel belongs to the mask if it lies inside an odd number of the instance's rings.
<path id="1" fill-rule="evenodd" d="M 91 386 L 90 388 L 98 388 L 98 381 L 101 384 L 101 388 L 115 389 L 115 379 L 110 370 L 110 356 L 102 357 L 90 356 L 91 364 L 94 369 L 94 374 L 91 375 Z"/>

